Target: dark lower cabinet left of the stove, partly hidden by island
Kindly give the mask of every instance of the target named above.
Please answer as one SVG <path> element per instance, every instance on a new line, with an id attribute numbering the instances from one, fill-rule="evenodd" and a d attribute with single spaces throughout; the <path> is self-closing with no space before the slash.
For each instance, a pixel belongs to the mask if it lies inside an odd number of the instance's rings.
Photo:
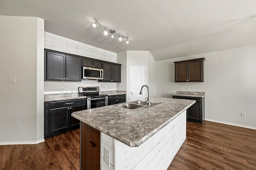
<path id="1" fill-rule="evenodd" d="M 80 127 L 73 112 L 86 109 L 86 99 L 44 102 L 44 138 L 55 136 Z"/>

